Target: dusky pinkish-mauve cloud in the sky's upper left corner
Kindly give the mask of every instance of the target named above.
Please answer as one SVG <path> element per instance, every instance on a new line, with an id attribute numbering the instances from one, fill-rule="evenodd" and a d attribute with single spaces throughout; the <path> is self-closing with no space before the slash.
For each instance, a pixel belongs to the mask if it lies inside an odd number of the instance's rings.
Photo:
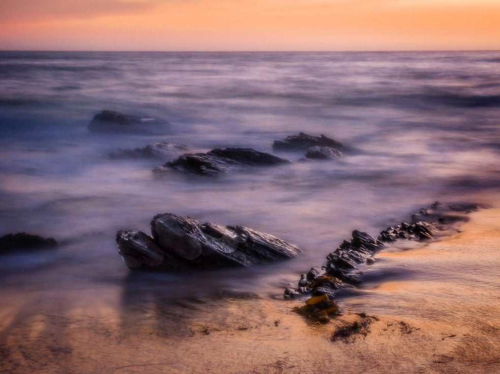
<path id="1" fill-rule="evenodd" d="M 134 14 L 154 7 L 158 0 L 1 0 L 0 21 L 88 19 Z"/>

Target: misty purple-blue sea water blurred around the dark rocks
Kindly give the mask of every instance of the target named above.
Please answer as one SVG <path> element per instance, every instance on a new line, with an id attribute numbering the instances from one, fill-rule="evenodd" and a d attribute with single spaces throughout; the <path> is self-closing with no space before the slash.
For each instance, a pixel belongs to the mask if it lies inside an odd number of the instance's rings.
<path id="1" fill-rule="evenodd" d="M 0 52 L 0 235 L 26 231 L 60 244 L 1 255 L 3 292 L 40 303 L 63 294 L 126 303 L 152 290 L 281 295 L 353 229 L 376 235 L 436 200 L 494 205 L 499 73 L 500 52 Z M 169 126 L 89 132 L 103 109 Z M 301 152 L 275 152 L 293 163 L 218 177 L 158 177 L 152 169 L 168 158 L 109 157 L 155 142 L 273 152 L 274 140 L 301 131 L 355 151 L 308 162 Z M 161 212 L 251 227 L 304 255 L 247 269 L 130 275 L 115 234 L 149 233 Z"/>

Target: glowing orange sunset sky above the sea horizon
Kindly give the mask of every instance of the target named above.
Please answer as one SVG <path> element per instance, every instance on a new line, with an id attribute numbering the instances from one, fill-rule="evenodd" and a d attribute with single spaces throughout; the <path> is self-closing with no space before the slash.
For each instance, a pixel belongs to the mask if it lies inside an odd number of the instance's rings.
<path id="1" fill-rule="evenodd" d="M 500 49 L 500 0 L 0 0 L 0 49 Z"/>

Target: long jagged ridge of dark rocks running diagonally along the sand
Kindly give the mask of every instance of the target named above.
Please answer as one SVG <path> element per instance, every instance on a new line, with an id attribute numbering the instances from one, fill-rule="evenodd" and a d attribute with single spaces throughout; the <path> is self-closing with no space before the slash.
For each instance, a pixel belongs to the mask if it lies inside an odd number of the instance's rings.
<path id="1" fill-rule="evenodd" d="M 477 210 L 474 204 L 450 204 L 448 207 L 436 202 L 429 208 L 422 208 L 412 215 L 412 222 L 403 222 L 381 231 L 378 237 L 354 230 L 350 240 L 344 240 L 332 253 L 326 256 L 326 264 L 314 266 L 307 274 L 302 274 L 297 288 L 287 288 L 285 298 L 312 295 L 305 306 L 297 311 L 314 319 L 327 319 L 334 313 L 332 307 L 335 292 L 342 288 L 356 287 L 361 283 L 358 268 L 361 264 L 373 264 L 373 255 L 387 243 L 396 240 L 424 241 L 434 238 L 438 232 L 449 230 L 451 225 L 465 221 L 465 213 Z M 323 297 L 326 296 L 326 297 Z M 321 300 L 321 303 L 317 301 Z M 326 309 L 318 305 L 327 305 Z M 330 313 L 331 312 L 331 313 Z"/>

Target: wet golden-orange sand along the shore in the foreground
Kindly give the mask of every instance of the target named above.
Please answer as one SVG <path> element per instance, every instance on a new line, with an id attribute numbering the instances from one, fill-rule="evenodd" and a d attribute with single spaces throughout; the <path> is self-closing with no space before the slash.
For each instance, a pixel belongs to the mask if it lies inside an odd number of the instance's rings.
<path id="1" fill-rule="evenodd" d="M 500 209 L 470 216 L 450 237 L 376 256 L 373 269 L 436 268 L 434 279 L 369 282 L 325 325 L 296 315 L 296 300 L 263 295 L 172 302 L 156 291 L 124 304 L 116 285 L 98 298 L 6 287 L 0 372 L 497 374 Z M 368 334 L 331 340 L 361 312 L 378 319 Z"/>

